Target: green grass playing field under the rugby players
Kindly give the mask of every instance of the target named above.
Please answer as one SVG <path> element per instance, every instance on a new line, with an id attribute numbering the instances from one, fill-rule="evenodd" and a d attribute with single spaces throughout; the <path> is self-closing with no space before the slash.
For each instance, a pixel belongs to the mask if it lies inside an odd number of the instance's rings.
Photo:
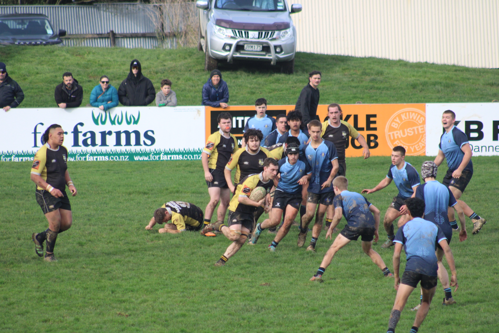
<path id="1" fill-rule="evenodd" d="M 424 160 L 408 158 L 414 165 Z M 489 223 L 466 242 L 455 236 L 458 303 L 443 307 L 439 284 L 420 332 L 498 330 L 499 157 L 473 161 L 475 175 L 463 199 Z M 350 190 L 375 186 L 389 163 L 388 157 L 348 158 Z M 34 254 L 30 239 L 47 223 L 35 202 L 29 167 L 29 162 L 1 164 L 0 332 L 371 333 L 387 328 L 393 280 L 383 278 L 360 242 L 340 250 L 325 283 L 316 284 L 308 279 L 331 244 L 324 232 L 315 254 L 297 248 L 295 229 L 269 253 L 273 235 L 264 232 L 256 246 L 245 245 L 225 267 L 216 268 L 230 244 L 225 237 L 158 234 L 157 227 L 146 231 L 154 209 L 165 201 L 205 208 L 199 161 L 70 163 L 79 191 L 71 198 L 74 224 L 58 237 L 60 261 L 46 263 Z M 439 180 L 445 169 L 440 168 Z M 384 214 L 396 193 L 390 185 L 368 198 Z M 467 226 L 471 231 L 469 219 Z M 393 250 L 380 248 L 385 232 L 380 235 L 374 249 L 391 269 Z M 415 314 L 408 309 L 418 302 L 415 291 L 397 332 L 409 331 Z"/>

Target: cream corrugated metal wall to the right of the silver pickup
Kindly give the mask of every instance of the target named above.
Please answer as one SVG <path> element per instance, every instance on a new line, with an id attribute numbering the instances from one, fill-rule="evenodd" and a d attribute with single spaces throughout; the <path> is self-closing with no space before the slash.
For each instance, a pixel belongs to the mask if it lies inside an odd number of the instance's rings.
<path id="1" fill-rule="evenodd" d="M 499 68 L 498 0 L 288 0 L 297 50 Z"/>

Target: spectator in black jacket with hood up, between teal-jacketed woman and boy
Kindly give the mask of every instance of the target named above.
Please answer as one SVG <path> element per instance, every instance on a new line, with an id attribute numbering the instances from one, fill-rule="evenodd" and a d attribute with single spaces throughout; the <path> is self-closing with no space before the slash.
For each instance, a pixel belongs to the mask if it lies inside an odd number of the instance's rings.
<path id="1" fill-rule="evenodd" d="M 139 60 L 130 62 L 130 73 L 121 82 L 118 89 L 118 99 L 125 106 L 146 106 L 156 97 L 153 83 L 142 75 L 142 66 Z"/>

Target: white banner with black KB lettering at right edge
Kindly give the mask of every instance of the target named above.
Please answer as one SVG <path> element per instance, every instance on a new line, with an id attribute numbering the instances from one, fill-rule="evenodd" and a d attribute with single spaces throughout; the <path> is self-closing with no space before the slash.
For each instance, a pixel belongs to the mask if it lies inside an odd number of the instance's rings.
<path id="1" fill-rule="evenodd" d="M 457 127 L 468 136 L 473 155 L 499 155 L 499 103 L 426 104 L 426 155 L 438 154 L 445 110 L 456 113 Z"/>

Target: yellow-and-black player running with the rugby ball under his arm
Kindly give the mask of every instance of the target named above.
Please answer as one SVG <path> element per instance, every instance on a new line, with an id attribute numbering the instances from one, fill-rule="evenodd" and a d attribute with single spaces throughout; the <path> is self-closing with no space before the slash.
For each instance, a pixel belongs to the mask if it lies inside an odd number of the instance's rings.
<path id="1" fill-rule="evenodd" d="M 215 266 L 224 266 L 225 263 L 236 254 L 245 244 L 246 239 L 253 231 L 254 212 L 257 207 L 265 205 L 268 211 L 269 207 L 266 205 L 267 198 L 263 198 L 258 202 L 250 199 L 251 191 L 257 187 L 263 187 L 266 190 L 266 197 L 270 189 L 274 185 L 273 179 L 278 170 L 277 161 L 273 158 L 265 158 L 263 161 L 263 171 L 250 175 L 244 178 L 236 189 L 236 194 L 232 197 L 229 207 L 230 214 L 228 218 L 228 225 L 218 221 L 205 227 L 204 231 L 218 230 L 224 234 L 233 243 L 227 248 L 226 252 Z"/>

